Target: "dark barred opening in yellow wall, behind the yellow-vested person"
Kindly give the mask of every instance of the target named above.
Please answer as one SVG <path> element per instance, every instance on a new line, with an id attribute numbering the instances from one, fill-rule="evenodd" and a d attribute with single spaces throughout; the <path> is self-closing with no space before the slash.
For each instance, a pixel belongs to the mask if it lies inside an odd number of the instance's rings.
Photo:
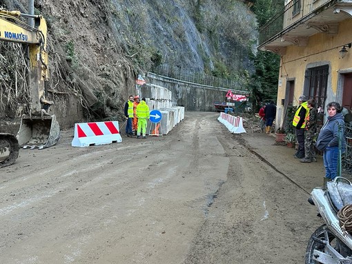
<path id="1" fill-rule="evenodd" d="M 304 94 L 308 99 L 315 99 L 319 113 L 319 123 L 324 122 L 324 105 L 328 86 L 329 65 L 323 65 L 306 70 Z"/>

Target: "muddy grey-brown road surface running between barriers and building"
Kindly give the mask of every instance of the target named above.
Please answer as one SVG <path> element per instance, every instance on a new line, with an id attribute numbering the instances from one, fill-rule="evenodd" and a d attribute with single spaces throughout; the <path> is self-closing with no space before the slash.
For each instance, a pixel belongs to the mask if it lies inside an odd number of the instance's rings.
<path id="1" fill-rule="evenodd" d="M 304 263 L 321 158 L 187 112 L 168 135 L 20 150 L 0 170 L 0 263 Z"/>

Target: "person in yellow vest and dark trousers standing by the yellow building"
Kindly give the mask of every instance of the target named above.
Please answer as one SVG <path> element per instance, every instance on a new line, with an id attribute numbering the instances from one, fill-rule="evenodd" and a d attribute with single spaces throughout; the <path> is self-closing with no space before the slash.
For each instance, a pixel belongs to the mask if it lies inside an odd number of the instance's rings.
<path id="1" fill-rule="evenodd" d="M 293 117 L 292 125 L 296 129 L 296 136 L 298 141 L 298 150 L 295 153 L 295 159 L 303 159 L 305 156 L 304 153 L 304 128 L 306 127 L 306 116 L 309 114 L 308 103 L 306 101 L 306 97 L 301 95 L 298 98 L 298 103 L 300 106 L 297 108 L 295 112 L 295 116 Z"/>

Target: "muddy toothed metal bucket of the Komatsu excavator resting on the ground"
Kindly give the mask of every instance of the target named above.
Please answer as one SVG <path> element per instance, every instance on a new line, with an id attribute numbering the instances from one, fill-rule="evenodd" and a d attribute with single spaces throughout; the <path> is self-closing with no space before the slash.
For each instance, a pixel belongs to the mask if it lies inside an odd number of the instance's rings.
<path id="1" fill-rule="evenodd" d="M 49 148 L 55 145 L 60 137 L 60 126 L 55 114 L 52 116 L 23 115 L 17 133 L 19 145 L 23 148 Z"/>

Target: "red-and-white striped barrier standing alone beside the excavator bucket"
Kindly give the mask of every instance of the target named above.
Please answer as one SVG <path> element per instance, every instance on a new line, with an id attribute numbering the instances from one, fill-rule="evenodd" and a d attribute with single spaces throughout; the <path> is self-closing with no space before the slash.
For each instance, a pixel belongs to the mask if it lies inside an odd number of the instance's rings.
<path id="1" fill-rule="evenodd" d="M 121 142 L 118 121 L 76 123 L 72 147 L 88 147 Z"/>

